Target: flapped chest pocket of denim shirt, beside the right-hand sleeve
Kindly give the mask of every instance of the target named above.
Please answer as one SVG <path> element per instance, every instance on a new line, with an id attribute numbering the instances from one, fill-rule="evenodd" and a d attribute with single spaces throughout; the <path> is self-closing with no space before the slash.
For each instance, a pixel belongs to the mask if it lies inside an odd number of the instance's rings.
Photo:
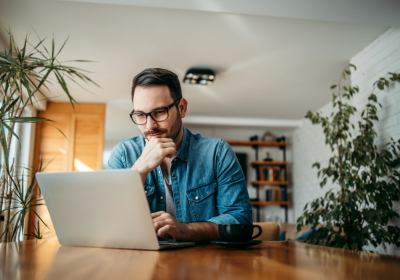
<path id="1" fill-rule="evenodd" d="M 218 215 L 216 205 L 217 183 L 196 186 L 186 192 L 194 219 L 204 222 Z"/>

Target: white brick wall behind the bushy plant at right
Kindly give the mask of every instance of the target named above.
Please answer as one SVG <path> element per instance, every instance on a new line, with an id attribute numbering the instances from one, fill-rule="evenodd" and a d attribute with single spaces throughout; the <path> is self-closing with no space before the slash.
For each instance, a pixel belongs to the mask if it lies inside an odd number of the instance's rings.
<path id="1" fill-rule="evenodd" d="M 352 75 L 352 84 L 360 87 L 360 93 L 354 98 L 353 105 L 359 112 L 362 111 L 372 90 L 372 84 L 387 72 L 400 72 L 400 28 L 391 28 L 374 42 L 364 48 L 350 60 L 357 66 Z M 338 73 L 340 75 L 340 73 Z M 335 77 L 332 77 L 335 78 Z M 329 87 L 330 85 L 327 85 Z M 378 100 L 383 108 L 378 110 L 379 124 L 375 126 L 378 133 L 378 145 L 386 143 L 390 137 L 400 138 L 400 85 L 384 92 L 376 91 Z M 331 103 L 321 107 L 323 115 L 331 112 Z M 352 120 L 357 127 L 357 119 Z M 304 205 L 325 194 L 332 184 L 323 189 L 319 187 L 316 169 L 312 169 L 314 162 L 327 165 L 332 156 L 330 149 L 325 145 L 325 138 L 320 126 L 313 126 L 308 119 L 303 120 L 300 128 L 293 133 L 293 196 L 294 217 L 302 214 Z M 395 209 L 400 213 L 400 205 Z M 400 226 L 400 221 L 392 221 Z M 373 248 L 369 248 L 373 249 Z M 384 252 L 381 248 L 379 252 Z M 391 247 L 390 254 L 400 254 L 400 249 Z"/>

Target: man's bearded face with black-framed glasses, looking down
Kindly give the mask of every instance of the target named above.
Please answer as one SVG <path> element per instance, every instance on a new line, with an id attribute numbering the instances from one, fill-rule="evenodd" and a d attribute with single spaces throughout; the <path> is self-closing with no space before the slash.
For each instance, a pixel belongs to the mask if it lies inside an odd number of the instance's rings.
<path id="1" fill-rule="evenodd" d="M 167 86 L 138 86 L 133 95 L 135 112 L 149 113 L 154 109 L 167 107 L 173 102 Z M 175 140 L 182 128 L 182 118 L 176 106 L 169 109 L 168 114 L 169 117 L 165 121 L 155 122 L 148 116 L 146 124 L 138 125 L 143 137 L 147 140 L 153 137 Z"/>

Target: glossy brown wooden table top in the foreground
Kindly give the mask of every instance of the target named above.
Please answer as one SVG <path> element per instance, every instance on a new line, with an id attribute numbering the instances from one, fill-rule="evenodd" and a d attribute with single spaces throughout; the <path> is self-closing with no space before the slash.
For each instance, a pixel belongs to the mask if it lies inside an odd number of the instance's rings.
<path id="1" fill-rule="evenodd" d="M 0 244 L 0 279 L 400 279 L 400 258 L 264 242 L 248 250 L 201 245 L 170 251 Z"/>

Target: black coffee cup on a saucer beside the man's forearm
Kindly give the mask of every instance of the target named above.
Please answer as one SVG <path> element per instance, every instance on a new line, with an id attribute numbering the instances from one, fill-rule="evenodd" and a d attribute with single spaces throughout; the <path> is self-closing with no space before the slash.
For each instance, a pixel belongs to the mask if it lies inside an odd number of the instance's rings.
<path id="1" fill-rule="evenodd" d="M 253 228 L 258 228 L 258 234 L 253 235 Z M 219 236 L 222 241 L 226 242 L 246 242 L 251 239 L 257 238 L 261 235 L 262 229 L 258 225 L 218 225 Z"/>

